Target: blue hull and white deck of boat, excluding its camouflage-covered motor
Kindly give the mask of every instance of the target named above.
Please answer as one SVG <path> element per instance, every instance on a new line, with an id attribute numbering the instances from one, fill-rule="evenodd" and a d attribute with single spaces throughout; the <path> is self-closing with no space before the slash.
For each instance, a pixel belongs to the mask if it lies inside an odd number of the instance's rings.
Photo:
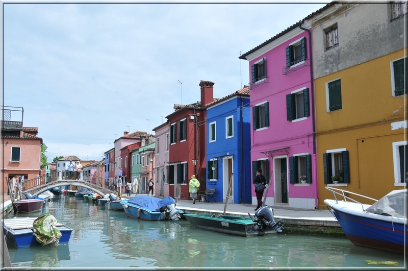
<path id="1" fill-rule="evenodd" d="M 18 218 L 17 218 L 18 219 Z M 22 220 L 30 220 L 29 226 Z M 16 218 L 4 219 L 3 231 L 6 237 L 6 242 L 17 249 L 41 246 L 34 236 L 32 221 L 33 218 L 22 218 L 21 224 Z M 10 222 L 9 222 L 10 221 Z M 65 225 L 57 225 L 56 228 L 61 232 L 60 244 L 68 243 L 72 229 Z"/>

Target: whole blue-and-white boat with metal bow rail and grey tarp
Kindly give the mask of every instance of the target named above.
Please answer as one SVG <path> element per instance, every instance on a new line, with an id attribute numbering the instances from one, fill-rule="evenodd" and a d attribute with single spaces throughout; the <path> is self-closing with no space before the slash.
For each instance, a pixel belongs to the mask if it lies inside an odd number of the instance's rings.
<path id="1" fill-rule="evenodd" d="M 343 189 L 325 188 L 333 192 L 334 200 L 326 199 L 324 203 L 331 209 L 347 238 L 354 245 L 404 253 L 408 233 L 406 189 L 391 191 L 377 201 Z M 336 195 L 342 200 L 338 200 Z M 362 204 L 350 198 L 351 196 L 359 196 L 375 203 Z"/>

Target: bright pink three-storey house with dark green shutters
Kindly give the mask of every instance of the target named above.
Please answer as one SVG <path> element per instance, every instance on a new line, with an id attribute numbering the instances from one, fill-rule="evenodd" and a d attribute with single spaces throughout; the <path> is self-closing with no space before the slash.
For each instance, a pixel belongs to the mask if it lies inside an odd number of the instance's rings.
<path id="1" fill-rule="evenodd" d="M 262 168 L 270 206 L 317 207 L 312 33 L 305 29 L 298 22 L 240 56 L 251 77 L 252 179 Z"/>

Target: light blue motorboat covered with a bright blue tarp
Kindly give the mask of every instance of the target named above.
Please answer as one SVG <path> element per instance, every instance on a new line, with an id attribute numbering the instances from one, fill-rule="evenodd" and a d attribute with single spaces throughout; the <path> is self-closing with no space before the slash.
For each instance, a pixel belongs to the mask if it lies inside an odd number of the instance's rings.
<path id="1" fill-rule="evenodd" d="M 130 200 L 122 200 L 121 205 L 127 215 L 144 220 L 179 220 L 183 211 L 175 208 L 171 196 L 159 199 L 147 195 L 137 195 Z"/>

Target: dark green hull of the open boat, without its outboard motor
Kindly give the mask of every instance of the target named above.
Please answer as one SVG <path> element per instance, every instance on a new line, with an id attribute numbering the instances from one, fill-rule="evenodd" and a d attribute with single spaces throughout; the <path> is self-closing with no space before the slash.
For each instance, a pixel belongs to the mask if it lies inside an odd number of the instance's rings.
<path id="1" fill-rule="evenodd" d="M 258 223 L 250 218 L 210 214 L 184 214 L 191 225 L 200 229 L 234 234 L 240 236 L 262 236 L 276 234 L 272 228 L 262 230 Z"/>

